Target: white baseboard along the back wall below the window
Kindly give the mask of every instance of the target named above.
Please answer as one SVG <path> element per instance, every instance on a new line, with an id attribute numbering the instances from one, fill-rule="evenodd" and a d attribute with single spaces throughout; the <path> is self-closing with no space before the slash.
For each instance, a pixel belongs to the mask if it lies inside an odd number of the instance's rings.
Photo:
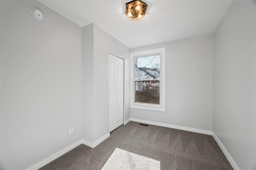
<path id="1" fill-rule="evenodd" d="M 160 123 L 160 122 L 156 122 L 156 121 L 147 121 L 147 120 L 134 119 L 134 118 L 130 118 L 130 120 L 140 122 L 140 123 L 147 123 L 147 124 L 150 124 L 150 125 L 170 127 L 170 128 L 180 129 L 180 130 L 184 130 L 184 131 L 190 131 L 190 132 L 202 133 L 202 134 L 206 134 L 206 135 L 212 135 L 212 131 L 206 131 L 206 130 L 196 129 L 196 128 L 192 128 L 192 127 L 172 125 L 172 124 L 168 124 L 168 123 Z"/>

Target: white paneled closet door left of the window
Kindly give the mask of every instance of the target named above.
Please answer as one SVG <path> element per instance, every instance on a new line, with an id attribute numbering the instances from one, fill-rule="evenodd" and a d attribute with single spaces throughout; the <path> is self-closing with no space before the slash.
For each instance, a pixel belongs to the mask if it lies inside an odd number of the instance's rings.
<path id="1" fill-rule="evenodd" d="M 108 113 L 110 132 L 123 124 L 123 101 L 124 59 L 108 53 Z"/>

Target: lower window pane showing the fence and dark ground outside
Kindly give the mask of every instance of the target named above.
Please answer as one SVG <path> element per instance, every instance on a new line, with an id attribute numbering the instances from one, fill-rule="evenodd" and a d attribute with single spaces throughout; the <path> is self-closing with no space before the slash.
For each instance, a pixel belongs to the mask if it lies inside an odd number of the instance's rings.
<path id="1" fill-rule="evenodd" d="M 135 104 L 160 105 L 160 81 L 135 81 Z"/>

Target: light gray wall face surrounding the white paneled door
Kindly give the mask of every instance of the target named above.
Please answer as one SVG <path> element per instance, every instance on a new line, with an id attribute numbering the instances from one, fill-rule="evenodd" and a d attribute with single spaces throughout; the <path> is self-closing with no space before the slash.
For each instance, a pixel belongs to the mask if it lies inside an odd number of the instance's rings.
<path id="1" fill-rule="evenodd" d="M 108 86 L 102 86 L 108 84 L 108 52 L 124 58 L 124 121 L 130 118 L 130 49 L 94 24 L 94 90 L 100 92 L 95 92 L 94 140 L 109 131 Z"/>

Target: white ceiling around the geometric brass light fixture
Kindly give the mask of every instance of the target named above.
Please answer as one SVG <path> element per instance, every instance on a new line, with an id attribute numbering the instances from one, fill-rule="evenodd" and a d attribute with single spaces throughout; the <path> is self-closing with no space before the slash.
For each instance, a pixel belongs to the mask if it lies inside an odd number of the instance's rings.
<path id="1" fill-rule="evenodd" d="M 232 0 L 144 0 L 141 21 L 130 21 L 130 0 L 39 0 L 84 27 L 95 23 L 130 49 L 213 33 Z"/>

